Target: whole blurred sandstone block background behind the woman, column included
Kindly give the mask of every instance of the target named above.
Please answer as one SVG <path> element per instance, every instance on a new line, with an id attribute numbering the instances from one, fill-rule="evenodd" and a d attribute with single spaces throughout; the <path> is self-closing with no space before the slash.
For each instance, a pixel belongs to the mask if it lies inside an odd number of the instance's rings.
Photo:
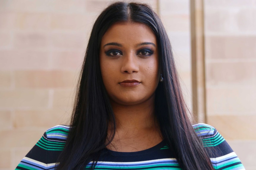
<path id="1" fill-rule="evenodd" d="M 91 27 L 110 0 L 0 0 L 0 170 L 67 124 Z M 169 34 L 188 107 L 256 170 L 256 0 L 143 0 Z"/>

